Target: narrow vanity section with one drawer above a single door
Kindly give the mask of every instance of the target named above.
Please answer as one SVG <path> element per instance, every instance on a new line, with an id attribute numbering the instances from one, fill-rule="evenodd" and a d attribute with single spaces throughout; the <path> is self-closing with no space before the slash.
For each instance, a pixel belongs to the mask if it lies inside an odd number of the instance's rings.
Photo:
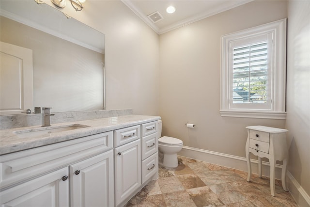
<path id="1" fill-rule="evenodd" d="M 119 206 L 141 186 L 140 125 L 115 130 L 114 142 L 115 205 Z"/>

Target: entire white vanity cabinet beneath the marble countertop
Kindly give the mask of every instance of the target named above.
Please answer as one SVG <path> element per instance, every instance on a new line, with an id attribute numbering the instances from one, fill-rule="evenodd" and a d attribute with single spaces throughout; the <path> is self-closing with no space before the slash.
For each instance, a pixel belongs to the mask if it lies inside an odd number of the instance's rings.
<path id="1" fill-rule="evenodd" d="M 1 205 L 123 206 L 158 177 L 157 127 L 153 121 L 1 155 Z"/>

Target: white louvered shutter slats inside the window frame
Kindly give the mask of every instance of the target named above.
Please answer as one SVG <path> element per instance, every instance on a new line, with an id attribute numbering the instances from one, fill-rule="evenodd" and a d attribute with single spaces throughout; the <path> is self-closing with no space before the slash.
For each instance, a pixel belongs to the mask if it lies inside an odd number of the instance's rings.
<path id="1" fill-rule="evenodd" d="M 266 103 L 267 41 L 233 48 L 233 103 Z"/>

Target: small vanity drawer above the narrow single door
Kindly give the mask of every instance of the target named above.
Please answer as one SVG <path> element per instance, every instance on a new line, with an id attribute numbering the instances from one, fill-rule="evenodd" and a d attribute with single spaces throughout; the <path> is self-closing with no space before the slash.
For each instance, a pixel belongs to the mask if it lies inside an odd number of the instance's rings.
<path id="1" fill-rule="evenodd" d="M 114 131 L 114 147 L 130 143 L 140 138 L 140 125 L 126 127 Z"/>

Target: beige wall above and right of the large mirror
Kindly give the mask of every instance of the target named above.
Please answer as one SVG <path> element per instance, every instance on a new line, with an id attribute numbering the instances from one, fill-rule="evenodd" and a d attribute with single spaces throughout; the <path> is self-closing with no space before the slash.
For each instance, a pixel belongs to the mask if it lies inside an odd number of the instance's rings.
<path id="1" fill-rule="evenodd" d="M 106 35 L 107 109 L 158 115 L 158 34 L 121 1 L 87 0 L 83 5 L 76 12 L 67 3 L 62 11 Z"/>

